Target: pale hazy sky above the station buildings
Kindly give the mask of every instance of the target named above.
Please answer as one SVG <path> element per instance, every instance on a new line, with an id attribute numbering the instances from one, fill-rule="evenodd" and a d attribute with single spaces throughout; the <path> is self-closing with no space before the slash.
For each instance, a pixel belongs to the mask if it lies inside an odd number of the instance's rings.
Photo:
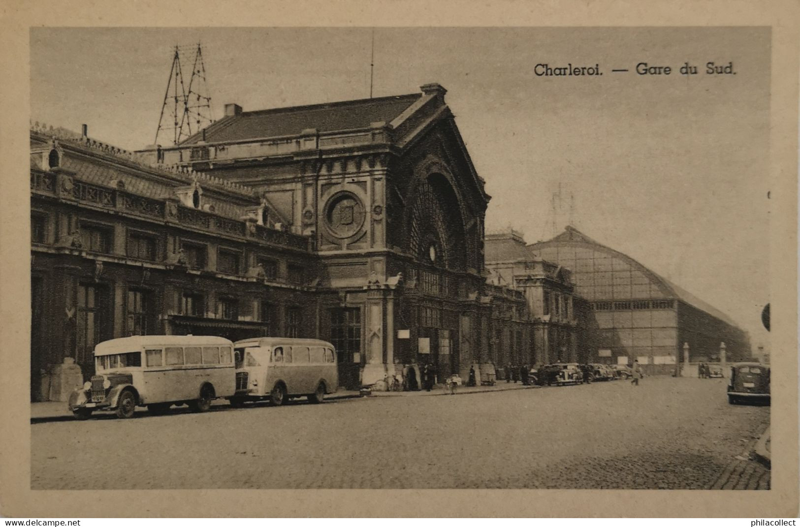
<path id="1" fill-rule="evenodd" d="M 368 28 L 35 28 L 31 116 L 142 148 L 173 46 L 198 40 L 215 118 L 227 102 L 367 98 L 371 38 Z M 578 230 L 729 313 L 754 347 L 768 342 L 769 28 L 378 28 L 374 42 L 376 97 L 427 82 L 448 90 L 492 196 L 487 231 L 550 238 L 561 182 Z M 709 61 L 736 74 L 706 74 Z M 603 75 L 534 74 L 570 62 Z M 638 75 L 638 62 L 673 72 Z M 684 62 L 698 74 L 680 74 Z M 559 214 L 556 230 L 569 219 Z"/>

